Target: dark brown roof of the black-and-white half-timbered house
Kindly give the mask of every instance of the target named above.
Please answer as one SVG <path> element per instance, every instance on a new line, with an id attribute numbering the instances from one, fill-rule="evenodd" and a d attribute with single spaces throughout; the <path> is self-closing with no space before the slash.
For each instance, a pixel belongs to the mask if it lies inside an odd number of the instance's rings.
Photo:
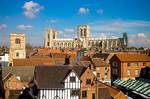
<path id="1" fill-rule="evenodd" d="M 38 89 L 63 88 L 63 80 L 71 71 L 80 77 L 85 70 L 84 66 L 36 66 L 35 81 Z"/>

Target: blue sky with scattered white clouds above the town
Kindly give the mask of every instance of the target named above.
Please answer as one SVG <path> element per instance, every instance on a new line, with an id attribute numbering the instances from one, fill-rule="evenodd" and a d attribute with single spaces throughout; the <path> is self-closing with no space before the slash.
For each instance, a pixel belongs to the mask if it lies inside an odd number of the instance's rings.
<path id="1" fill-rule="evenodd" d="M 129 46 L 150 48 L 150 0 L 0 0 L 0 45 L 9 34 L 22 32 L 26 42 L 44 45 L 45 30 L 58 38 L 75 38 L 77 26 L 87 24 L 95 38 L 128 33 Z"/>

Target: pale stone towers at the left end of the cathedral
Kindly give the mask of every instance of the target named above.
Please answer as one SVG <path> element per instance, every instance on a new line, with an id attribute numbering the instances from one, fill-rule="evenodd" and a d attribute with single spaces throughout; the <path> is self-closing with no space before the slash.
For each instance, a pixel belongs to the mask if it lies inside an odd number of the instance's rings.
<path id="1" fill-rule="evenodd" d="M 47 29 L 46 34 L 45 34 L 45 44 L 44 46 L 46 48 L 51 48 L 52 47 L 52 42 L 54 39 L 57 38 L 58 32 L 54 29 Z"/>

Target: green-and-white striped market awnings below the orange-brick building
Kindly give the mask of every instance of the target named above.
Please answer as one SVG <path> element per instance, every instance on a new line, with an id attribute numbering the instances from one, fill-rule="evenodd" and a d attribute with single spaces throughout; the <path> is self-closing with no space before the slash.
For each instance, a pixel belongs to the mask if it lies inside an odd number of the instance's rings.
<path id="1" fill-rule="evenodd" d="M 140 78 L 138 80 L 120 80 L 117 79 L 113 82 L 113 84 L 117 87 L 124 88 L 129 92 L 133 92 L 137 95 L 142 96 L 143 98 L 150 98 L 150 80 Z"/>

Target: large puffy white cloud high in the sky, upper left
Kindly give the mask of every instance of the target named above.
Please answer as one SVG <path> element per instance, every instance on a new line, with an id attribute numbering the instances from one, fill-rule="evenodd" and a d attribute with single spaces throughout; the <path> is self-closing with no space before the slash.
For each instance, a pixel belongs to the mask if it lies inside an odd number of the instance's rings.
<path id="1" fill-rule="evenodd" d="M 29 1 L 25 2 L 22 8 L 24 9 L 24 15 L 26 17 L 34 18 L 36 17 L 36 14 L 39 13 L 44 7 L 36 2 Z"/>

